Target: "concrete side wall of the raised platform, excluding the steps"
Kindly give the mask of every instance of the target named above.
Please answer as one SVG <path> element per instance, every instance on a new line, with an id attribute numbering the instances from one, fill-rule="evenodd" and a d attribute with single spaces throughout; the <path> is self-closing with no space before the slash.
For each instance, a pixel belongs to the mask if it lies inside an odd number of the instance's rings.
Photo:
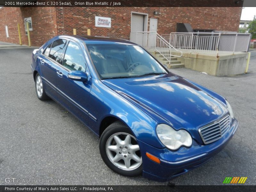
<path id="1" fill-rule="evenodd" d="M 232 76 L 243 74 L 246 68 L 248 53 L 240 52 L 220 56 L 183 53 L 177 57 L 186 68 L 214 76 Z"/>

